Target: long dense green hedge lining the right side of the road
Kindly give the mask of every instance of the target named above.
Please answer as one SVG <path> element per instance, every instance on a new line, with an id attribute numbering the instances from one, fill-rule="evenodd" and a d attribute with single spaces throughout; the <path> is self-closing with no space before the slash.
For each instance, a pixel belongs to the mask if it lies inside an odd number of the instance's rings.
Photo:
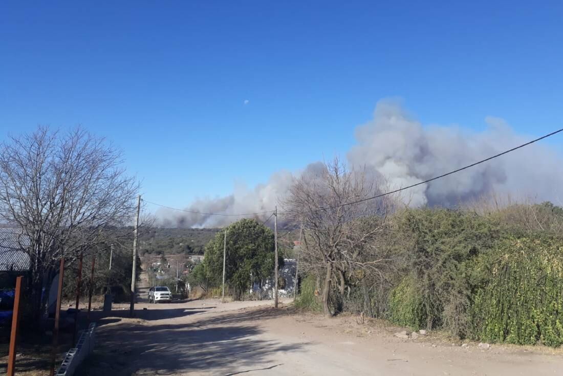
<path id="1" fill-rule="evenodd" d="M 347 310 L 479 341 L 563 344 L 562 208 L 405 209 L 392 221 L 378 244 L 390 265 L 350 279 Z M 317 303 L 307 281 L 302 307 Z"/>

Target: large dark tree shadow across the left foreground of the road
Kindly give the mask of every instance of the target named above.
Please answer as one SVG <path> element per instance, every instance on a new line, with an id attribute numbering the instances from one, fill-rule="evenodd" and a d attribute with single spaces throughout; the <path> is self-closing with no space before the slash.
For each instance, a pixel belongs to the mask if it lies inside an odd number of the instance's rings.
<path id="1" fill-rule="evenodd" d="M 168 310 L 158 311 L 163 314 Z M 184 315 L 196 312 L 182 311 Z M 177 312 L 168 314 L 174 317 Z M 124 320 L 104 326 L 97 337 L 100 346 L 78 374 L 129 376 L 209 371 L 236 375 L 272 369 L 279 365 L 272 366 L 272 362 L 279 362 L 284 352 L 300 350 L 304 344 L 260 338 L 262 329 L 253 322 L 259 318 L 257 312 L 237 312 L 185 324 L 154 325 Z M 243 322 L 246 324 L 242 325 Z"/>

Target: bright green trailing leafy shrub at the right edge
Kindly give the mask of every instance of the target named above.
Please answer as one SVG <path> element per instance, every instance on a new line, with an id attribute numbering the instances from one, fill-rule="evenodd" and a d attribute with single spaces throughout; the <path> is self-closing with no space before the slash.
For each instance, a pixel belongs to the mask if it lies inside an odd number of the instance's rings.
<path id="1" fill-rule="evenodd" d="M 503 241 L 481 268 L 473 337 L 490 342 L 563 343 L 563 242 L 547 236 Z"/>

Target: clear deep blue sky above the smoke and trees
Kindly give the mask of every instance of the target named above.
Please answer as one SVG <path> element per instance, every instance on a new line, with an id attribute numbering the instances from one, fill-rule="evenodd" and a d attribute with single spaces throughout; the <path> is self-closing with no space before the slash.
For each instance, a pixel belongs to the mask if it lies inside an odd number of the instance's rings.
<path id="1" fill-rule="evenodd" d="M 563 124 L 561 1 L 54 4 L 0 5 L 0 138 L 82 124 L 163 204 L 345 155 L 386 97 L 423 123 Z"/>

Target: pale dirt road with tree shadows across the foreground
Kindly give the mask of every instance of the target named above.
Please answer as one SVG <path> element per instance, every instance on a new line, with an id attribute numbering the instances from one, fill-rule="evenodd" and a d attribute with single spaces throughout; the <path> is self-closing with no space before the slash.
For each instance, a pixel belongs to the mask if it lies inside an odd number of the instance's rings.
<path id="1" fill-rule="evenodd" d="M 381 325 L 359 325 L 355 317 L 297 315 L 274 310 L 271 302 L 136 308 L 136 319 L 99 321 L 97 350 L 79 374 L 563 375 L 561 351 L 496 345 L 480 350 L 432 335 L 413 342 Z M 115 313 L 122 312 L 127 311 Z"/>

